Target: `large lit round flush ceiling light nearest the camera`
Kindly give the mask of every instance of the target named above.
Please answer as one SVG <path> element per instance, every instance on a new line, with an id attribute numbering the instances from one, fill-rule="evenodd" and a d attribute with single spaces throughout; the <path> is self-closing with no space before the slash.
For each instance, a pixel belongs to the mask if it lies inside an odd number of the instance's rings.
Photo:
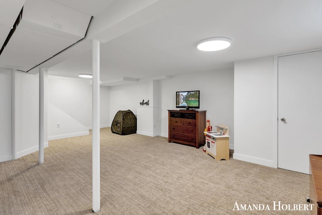
<path id="1" fill-rule="evenodd" d="M 231 44 L 231 39 L 226 37 L 212 37 L 201 40 L 197 43 L 197 48 L 201 51 L 218 51 L 228 48 Z"/>

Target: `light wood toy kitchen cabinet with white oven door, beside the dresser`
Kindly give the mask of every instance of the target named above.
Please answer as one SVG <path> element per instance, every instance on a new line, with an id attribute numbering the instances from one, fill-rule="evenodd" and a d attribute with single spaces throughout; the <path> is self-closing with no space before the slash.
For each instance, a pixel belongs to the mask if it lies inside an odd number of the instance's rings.
<path id="1" fill-rule="evenodd" d="M 216 131 L 205 131 L 206 153 L 216 161 L 229 160 L 229 136 Z"/>

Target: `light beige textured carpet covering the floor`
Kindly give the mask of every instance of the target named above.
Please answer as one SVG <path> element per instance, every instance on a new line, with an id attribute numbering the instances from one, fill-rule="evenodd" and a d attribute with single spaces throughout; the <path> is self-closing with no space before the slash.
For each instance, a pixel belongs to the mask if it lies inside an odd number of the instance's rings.
<path id="1" fill-rule="evenodd" d="M 37 152 L 0 163 L 0 173 L 0 214 L 93 214 L 91 135 L 50 141 L 44 164 Z M 309 214 L 273 210 L 274 201 L 305 204 L 308 193 L 305 174 L 215 161 L 165 137 L 101 129 L 97 214 Z M 271 210 L 236 211 L 235 202 Z"/>

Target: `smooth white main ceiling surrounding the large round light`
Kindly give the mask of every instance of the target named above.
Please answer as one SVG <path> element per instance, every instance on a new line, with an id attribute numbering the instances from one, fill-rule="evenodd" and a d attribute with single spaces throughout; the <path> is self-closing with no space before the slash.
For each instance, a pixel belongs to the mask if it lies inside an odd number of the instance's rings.
<path id="1" fill-rule="evenodd" d="M 76 78 L 79 73 L 92 73 L 91 40 L 98 39 L 101 81 L 106 85 L 113 85 L 113 80 L 222 69 L 236 60 L 322 48 L 320 0 L 54 1 L 94 18 L 82 43 L 42 66 L 48 67 L 49 75 Z M 196 44 L 209 37 L 228 37 L 233 43 L 217 52 L 197 50 Z"/>

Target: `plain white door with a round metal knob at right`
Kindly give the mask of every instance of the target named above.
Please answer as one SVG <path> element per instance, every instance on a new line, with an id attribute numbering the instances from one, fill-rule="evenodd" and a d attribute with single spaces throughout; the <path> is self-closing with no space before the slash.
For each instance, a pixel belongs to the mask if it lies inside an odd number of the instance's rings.
<path id="1" fill-rule="evenodd" d="M 322 51 L 278 58 L 278 120 L 278 168 L 309 174 L 308 155 L 322 155 Z"/>

